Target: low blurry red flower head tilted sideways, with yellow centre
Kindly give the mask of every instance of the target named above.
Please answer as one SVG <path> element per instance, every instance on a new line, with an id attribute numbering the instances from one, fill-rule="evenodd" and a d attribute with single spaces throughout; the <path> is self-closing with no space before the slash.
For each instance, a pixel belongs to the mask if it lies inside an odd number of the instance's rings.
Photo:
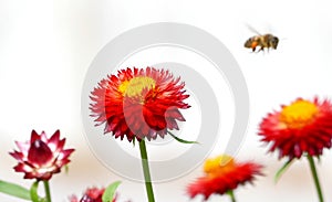
<path id="1" fill-rule="evenodd" d="M 207 159 L 204 164 L 205 177 L 189 184 L 187 192 L 190 198 L 203 194 L 208 200 L 211 194 L 225 194 L 239 184 L 251 182 L 256 174 L 262 174 L 260 164 L 237 162 L 230 156 Z"/>

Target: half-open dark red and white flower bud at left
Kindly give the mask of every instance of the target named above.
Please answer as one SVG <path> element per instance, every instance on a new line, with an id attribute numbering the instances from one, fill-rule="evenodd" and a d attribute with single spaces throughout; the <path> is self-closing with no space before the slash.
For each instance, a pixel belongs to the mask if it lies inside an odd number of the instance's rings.
<path id="1" fill-rule="evenodd" d="M 70 162 L 69 156 L 74 151 L 63 149 L 64 142 L 65 138 L 60 139 L 59 130 L 51 138 L 44 131 L 38 135 L 32 130 L 30 141 L 17 141 L 19 151 L 10 152 L 19 161 L 14 170 L 24 172 L 24 179 L 50 180 Z"/>

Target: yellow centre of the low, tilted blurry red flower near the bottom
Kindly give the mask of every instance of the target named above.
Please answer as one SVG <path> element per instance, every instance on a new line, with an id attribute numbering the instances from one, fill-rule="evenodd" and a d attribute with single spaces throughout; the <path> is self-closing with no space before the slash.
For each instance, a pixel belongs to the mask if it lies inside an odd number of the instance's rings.
<path id="1" fill-rule="evenodd" d="M 207 159 L 204 164 L 204 171 L 209 177 L 226 173 L 235 168 L 235 160 L 230 156 L 222 155 L 214 159 Z"/>

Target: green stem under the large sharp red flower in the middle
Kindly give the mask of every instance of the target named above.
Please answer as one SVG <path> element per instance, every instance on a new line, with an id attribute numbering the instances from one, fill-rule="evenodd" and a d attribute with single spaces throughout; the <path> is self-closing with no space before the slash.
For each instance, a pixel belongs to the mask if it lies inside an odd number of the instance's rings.
<path id="1" fill-rule="evenodd" d="M 146 146 L 145 146 L 144 139 L 139 141 L 139 150 L 141 150 L 141 158 L 142 158 L 142 166 L 143 166 L 147 199 L 148 199 L 148 202 L 155 202 L 154 190 L 153 190 L 153 187 L 152 187 L 149 168 L 148 168 Z"/>

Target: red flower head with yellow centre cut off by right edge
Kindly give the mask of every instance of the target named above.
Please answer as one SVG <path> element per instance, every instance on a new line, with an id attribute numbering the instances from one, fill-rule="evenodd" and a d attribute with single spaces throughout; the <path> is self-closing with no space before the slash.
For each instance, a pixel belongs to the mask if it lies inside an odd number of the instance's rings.
<path id="1" fill-rule="evenodd" d="M 323 148 L 331 148 L 332 104 L 298 98 L 280 111 L 268 114 L 259 135 L 261 141 L 271 143 L 270 151 L 279 150 L 279 158 L 301 158 L 303 152 L 320 156 Z"/>

